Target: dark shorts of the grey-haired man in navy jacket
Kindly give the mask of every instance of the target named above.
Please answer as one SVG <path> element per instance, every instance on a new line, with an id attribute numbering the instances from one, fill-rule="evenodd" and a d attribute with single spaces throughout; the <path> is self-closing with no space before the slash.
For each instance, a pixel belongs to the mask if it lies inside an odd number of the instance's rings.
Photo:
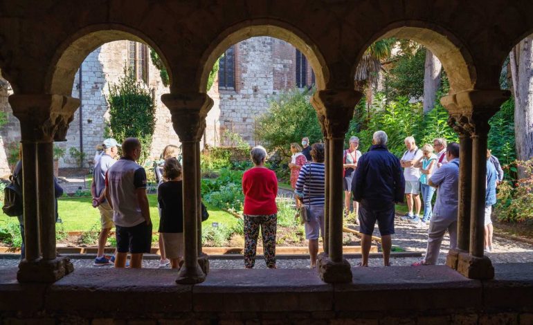
<path id="1" fill-rule="evenodd" d="M 372 235 L 377 221 L 381 236 L 394 234 L 394 212 L 394 205 L 386 207 L 384 210 L 373 210 L 364 205 L 359 205 L 359 232 Z"/>

